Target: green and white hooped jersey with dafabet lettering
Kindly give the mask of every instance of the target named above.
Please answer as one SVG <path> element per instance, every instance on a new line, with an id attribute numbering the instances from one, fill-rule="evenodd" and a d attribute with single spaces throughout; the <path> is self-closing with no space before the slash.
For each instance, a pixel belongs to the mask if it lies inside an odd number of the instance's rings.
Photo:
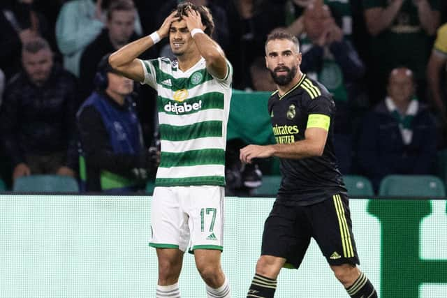
<path id="1" fill-rule="evenodd" d="M 157 91 L 161 163 L 156 186 L 225 185 L 226 125 L 233 68 L 222 80 L 205 59 L 183 72 L 177 60 L 140 60 L 145 81 Z"/>

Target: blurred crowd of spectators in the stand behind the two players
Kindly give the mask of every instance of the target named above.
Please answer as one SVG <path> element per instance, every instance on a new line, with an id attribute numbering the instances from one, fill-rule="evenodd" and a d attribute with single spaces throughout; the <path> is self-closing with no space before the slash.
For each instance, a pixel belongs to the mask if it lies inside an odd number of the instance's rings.
<path id="1" fill-rule="evenodd" d="M 298 37 L 302 71 L 337 105 L 342 174 L 364 175 L 377 188 L 387 174 L 437 173 L 447 144 L 447 1 L 189 1 L 210 8 L 233 89 L 274 91 L 265 38 L 274 30 Z M 2 0 L 1 179 L 10 186 L 30 174 L 60 174 L 87 181 L 88 191 L 135 190 L 153 179 L 156 94 L 101 60 L 159 29 L 178 2 Z M 167 40 L 142 59 L 160 56 L 173 57 Z M 229 142 L 228 152 L 243 146 Z M 228 158 L 227 167 L 230 181 L 237 171 L 248 177 L 230 193 L 258 185 L 258 165 Z"/>

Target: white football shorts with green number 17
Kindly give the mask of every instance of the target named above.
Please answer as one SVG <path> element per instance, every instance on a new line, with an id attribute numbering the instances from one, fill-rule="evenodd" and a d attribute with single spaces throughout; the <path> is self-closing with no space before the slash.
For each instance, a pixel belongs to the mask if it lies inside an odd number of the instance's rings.
<path id="1" fill-rule="evenodd" d="M 157 186 L 149 246 L 222 251 L 224 196 L 223 186 Z"/>

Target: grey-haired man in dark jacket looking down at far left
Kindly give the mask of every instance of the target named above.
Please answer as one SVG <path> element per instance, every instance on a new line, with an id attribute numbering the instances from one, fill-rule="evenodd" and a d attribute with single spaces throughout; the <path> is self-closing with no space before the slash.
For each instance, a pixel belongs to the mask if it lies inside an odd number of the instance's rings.
<path id="1" fill-rule="evenodd" d="M 22 49 L 23 70 L 5 90 L 1 105 L 1 135 L 13 179 L 29 174 L 75 176 L 75 77 L 53 63 L 43 38 Z"/>

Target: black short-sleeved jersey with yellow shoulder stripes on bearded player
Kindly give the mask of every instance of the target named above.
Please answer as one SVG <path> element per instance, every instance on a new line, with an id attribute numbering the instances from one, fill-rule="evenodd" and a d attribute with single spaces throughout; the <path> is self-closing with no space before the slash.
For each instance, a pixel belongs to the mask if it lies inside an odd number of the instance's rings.
<path id="1" fill-rule="evenodd" d="M 302 75 L 300 82 L 283 96 L 277 91 L 270 96 L 268 112 L 277 144 L 304 140 L 310 114 L 325 115 L 330 119 L 322 156 L 279 158 L 283 179 L 277 200 L 307 205 L 321 202 L 335 193 L 346 193 L 332 141 L 335 103 L 328 90 Z"/>

